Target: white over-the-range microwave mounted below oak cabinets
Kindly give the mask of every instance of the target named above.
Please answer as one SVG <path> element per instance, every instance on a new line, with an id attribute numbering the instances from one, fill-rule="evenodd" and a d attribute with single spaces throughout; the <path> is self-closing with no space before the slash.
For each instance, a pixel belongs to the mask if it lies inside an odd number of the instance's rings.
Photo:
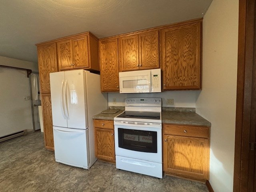
<path id="1" fill-rule="evenodd" d="M 120 93 L 160 93 L 161 69 L 119 72 Z"/>

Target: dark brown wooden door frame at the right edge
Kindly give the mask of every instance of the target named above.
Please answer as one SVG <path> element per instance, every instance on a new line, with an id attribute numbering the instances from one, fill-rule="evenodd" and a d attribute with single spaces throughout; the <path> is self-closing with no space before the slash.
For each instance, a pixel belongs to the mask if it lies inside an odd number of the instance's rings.
<path id="1" fill-rule="evenodd" d="M 254 0 L 239 0 L 234 192 L 255 187 L 255 148 L 250 150 L 256 131 L 255 5 Z"/>

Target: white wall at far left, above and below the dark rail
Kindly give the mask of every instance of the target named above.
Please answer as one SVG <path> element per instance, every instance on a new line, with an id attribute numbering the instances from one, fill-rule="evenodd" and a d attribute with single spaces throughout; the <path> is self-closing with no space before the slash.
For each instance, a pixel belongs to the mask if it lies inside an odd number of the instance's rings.
<path id="1" fill-rule="evenodd" d="M 33 62 L 0 56 L 0 65 L 31 69 L 38 73 L 38 64 Z M 25 96 L 30 96 L 29 86 L 26 71 L 0 68 L 0 136 L 33 130 L 30 100 L 24 101 Z"/>

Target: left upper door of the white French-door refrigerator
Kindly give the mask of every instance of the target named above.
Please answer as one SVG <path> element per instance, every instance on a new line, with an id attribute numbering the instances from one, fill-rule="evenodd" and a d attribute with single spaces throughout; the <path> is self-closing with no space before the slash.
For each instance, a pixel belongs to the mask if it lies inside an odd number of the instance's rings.
<path id="1" fill-rule="evenodd" d="M 52 124 L 53 126 L 67 127 L 65 114 L 65 76 L 64 72 L 50 73 Z"/>

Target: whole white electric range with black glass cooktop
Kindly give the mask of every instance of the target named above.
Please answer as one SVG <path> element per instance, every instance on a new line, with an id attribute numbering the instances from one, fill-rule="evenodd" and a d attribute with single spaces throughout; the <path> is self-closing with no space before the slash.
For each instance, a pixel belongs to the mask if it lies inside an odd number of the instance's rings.
<path id="1" fill-rule="evenodd" d="M 116 168 L 162 178 L 161 98 L 126 98 L 114 118 Z"/>

